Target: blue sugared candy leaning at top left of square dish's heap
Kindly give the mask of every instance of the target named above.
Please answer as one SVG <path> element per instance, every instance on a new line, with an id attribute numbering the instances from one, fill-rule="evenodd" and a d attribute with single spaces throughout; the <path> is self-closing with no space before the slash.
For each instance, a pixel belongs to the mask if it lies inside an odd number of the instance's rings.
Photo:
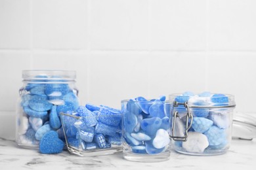
<path id="1" fill-rule="evenodd" d="M 80 115 L 83 116 L 83 121 L 85 124 L 89 127 L 95 126 L 97 124 L 97 120 L 92 114 L 90 110 L 88 110 L 86 107 L 79 106 L 76 110 L 76 112 Z"/>

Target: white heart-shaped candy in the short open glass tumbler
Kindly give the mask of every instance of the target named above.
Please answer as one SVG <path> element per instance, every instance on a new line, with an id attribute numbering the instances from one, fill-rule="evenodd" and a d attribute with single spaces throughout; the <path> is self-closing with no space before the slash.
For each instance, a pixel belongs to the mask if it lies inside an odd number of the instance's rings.
<path id="1" fill-rule="evenodd" d="M 152 144 L 155 148 L 163 148 L 170 143 L 169 134 L 165 129 L 158 129 Z"/>

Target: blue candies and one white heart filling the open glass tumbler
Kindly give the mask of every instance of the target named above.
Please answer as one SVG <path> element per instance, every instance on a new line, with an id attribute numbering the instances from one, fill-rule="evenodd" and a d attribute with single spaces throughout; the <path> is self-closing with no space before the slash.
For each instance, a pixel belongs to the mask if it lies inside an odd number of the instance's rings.
<path id="1" fill-rule="evenodd" d="M 165 96 L 137 97 L 122 103 L 124 147 L 136 154 L 159 154 L 169 149 L 170 103 Z"/>

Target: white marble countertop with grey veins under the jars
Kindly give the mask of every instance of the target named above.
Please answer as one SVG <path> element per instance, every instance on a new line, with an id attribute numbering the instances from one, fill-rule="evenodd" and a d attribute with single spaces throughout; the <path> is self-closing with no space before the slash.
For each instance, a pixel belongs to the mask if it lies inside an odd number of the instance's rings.
<path id="1" fill-rule="evenodd" d="M 256 139 L 233 139 L 230 150 L 219 156 L 188 156 L 171 152 L 168 161 L 140 163 L 123 160 L 121 154 L 83 158 L 64 151 L 45 155 L 20 148 L 0 138 L 0 169 L 255 169 Z"/>

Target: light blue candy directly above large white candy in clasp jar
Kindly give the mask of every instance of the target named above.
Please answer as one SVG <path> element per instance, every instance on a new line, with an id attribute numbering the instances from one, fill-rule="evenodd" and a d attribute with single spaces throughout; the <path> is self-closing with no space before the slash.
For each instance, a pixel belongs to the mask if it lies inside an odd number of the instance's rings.
<path id="1" fill-rule="evenodd" d="M 207 118 L 194 117 L 192 122 L 192 127 L 195 131 L 204 133 L 211 126 L 213 126 L 213 121 Z"/>

